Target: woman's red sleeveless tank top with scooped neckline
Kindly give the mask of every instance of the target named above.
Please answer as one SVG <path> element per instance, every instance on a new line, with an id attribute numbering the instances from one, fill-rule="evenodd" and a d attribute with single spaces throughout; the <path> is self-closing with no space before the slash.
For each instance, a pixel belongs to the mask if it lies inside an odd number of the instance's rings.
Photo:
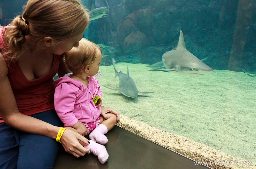
<path id="1" fill-rule="evenodd" d="M 22 73 L 18 61 L 9 60 L 10 55 L 4 54 L 7 51 L 4 31 L 9 26 L 11 25 L 0 27 L 0 49 L 8 67 L 8 78 L 20 113 L 32 115 L 54 109 L 53 76 L 58 71 L 60 56 L 53 55 L 52 68 L 47 74 L 35 80 L 28 80 Z M 0 123 L 2 122 L 4 121 L 0 116 Z"/>

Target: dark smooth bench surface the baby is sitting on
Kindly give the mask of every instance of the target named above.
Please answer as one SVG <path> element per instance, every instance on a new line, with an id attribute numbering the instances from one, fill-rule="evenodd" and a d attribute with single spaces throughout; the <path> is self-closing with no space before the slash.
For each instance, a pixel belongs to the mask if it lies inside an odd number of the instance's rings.
<path id="1" fill-rule="evenodd" d="M 108 161 L 100 164 L 98 157 L 85 154 L 75 158 L 60 149 L 54 169 L 210 169 L 207 166 L 195 165 L 195 161 L 155 144 L 130 131 L 114 126 L 106 136 L 105 145 L 109 154 Z"/>

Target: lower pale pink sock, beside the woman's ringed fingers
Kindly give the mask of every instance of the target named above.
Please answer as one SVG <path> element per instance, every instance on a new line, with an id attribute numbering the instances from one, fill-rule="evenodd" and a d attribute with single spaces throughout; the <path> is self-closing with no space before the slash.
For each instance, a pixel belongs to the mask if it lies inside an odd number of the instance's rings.
<path id="1" fill-rule="evenodd" d="M 90 144 L 87 145 L 87 148 L 91 148 L 88 154 L 92 152 L 93 155 L 98 156 L 101 164 L 104 164 L 108 160 L 108 152 L 104 145 L 90 140 Z"/>

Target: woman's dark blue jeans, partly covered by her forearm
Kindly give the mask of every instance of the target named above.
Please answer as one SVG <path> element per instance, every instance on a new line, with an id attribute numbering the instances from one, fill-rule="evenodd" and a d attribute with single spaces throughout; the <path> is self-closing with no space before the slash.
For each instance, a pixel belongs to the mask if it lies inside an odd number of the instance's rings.
<path id="1" fill-rule="evenodd" d="M 63 126 L 55 110 L 30 116 L 54 126 Z M 60 145 L 50 137 L 24 133 L 0 123 L 0 168 L 52 168 Z"/>

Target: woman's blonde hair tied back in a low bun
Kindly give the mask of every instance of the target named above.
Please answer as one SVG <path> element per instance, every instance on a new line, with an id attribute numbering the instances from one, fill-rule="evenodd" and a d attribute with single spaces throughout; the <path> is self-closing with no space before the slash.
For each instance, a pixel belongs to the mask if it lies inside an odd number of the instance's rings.
<path id="1" fill-rule="evenodd" d="M 33 40 L 52 37 L 64 42 L 81 34 L 89 22 L 89 13 L 77 0 L 28 0 L 22 16 L 12 21 L 5 31 L 5 41 L 11 59 L 24 51 L 25 36 Z"/>

